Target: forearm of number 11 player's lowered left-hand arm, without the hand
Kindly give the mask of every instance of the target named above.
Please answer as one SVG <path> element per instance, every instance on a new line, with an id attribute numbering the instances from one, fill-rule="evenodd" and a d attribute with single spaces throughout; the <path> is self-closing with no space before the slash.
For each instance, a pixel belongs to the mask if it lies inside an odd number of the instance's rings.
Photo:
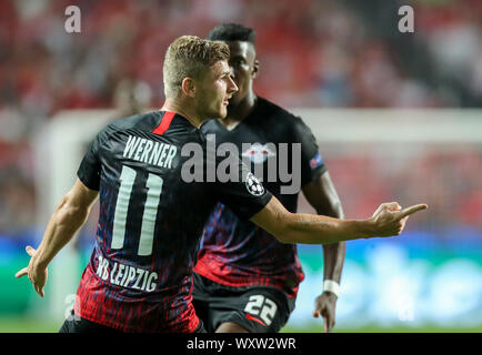
<path id="1" fill-rule="evenodd" d="M 47 267 L 59 251 L 72 240 L 79 229 L 86 223 L 88 209 L 72 205 L 63 197 L 60 205 L 50 217 L 42 242 L 34 255 L 36 267 Z"/>

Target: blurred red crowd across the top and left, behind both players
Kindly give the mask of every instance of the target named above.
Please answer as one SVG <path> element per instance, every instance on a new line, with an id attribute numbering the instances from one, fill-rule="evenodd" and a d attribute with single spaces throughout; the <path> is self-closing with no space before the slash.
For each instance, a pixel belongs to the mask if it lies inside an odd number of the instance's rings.
<path id="1" fill-rule="evenodd" d="M 66 109 L 159 106 L 168 44 L 222 22 L 257 30 L 255 91 L 287 108 L 481 108 L 482 2 L 409 3 L 414 33 L 398 31 L 398 1 L 0 0 L 0 233 L 34 223 L 29 142 L 42 123 Z M 70 4 L 80 33 L 64 30 Z"/>

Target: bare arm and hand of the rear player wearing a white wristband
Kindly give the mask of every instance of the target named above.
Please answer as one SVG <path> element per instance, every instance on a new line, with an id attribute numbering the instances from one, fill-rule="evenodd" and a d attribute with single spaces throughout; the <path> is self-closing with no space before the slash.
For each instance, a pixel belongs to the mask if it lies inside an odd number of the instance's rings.
<path id="1" fill-rule="evenodd" d="M 303 194 L 318 214 L 344 219 L 340 197 L 329 172 L 303 186 Z M 345 243 L 323 244 L 323 280 L 340 284 L 343 270 Z M 323 285 L 320 286 L 323 290 Z M 335 324 L 335 307 L 338 295 L 324 290 L 317 296 L 313 316 L 323 317 L 324 332 L 329 333 Z"/>

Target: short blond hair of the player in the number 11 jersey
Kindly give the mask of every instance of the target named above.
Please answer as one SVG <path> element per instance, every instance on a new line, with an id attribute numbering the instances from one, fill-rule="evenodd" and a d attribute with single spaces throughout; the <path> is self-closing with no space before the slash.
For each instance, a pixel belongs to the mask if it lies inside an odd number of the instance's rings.
<path id="1" fill-rule="evenodd" d="M 195 36 L 175 39 L 165 51 L 162 68 L 165 98 L 178 98 L 184 78 L 201 79 L 208 68 L 220 60 L 228 60 L 229 55 L 229 47 L 225 43 Z"/>

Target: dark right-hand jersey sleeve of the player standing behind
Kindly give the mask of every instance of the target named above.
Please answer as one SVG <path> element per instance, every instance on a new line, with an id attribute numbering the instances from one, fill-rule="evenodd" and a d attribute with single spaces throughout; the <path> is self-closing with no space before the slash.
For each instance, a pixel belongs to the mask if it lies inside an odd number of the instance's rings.
<path id="1" fill-rule="evenodd" d="M 327 165 L 323 162 L 317 139 L 310 128 L 295 118 L 293 142 L 301 143 L 301 185 L 305 185 L 324 174 Z"/>

